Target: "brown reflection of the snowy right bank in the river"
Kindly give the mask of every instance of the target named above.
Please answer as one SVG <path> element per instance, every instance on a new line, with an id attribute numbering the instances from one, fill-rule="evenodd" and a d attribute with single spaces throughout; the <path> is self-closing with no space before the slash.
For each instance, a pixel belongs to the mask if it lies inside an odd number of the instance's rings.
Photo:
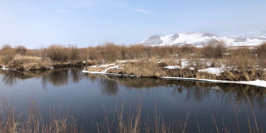
<path id="1" fill-rule="evenodd" d="M 201 102 L 203 99 L 209 98 L 210 94 L 216 94 L 217 98 L 224 99 L 224 102 L 230 102 L 234 99 L 237 102 L 246 100 L 245 92 L 254 106 L 260 109 L 266 105 L 266 89 L 258 86 L 231 84 L 231 83 L 209 83 L 187 80 L 171 80 L 160 78 L 136 78 L 122 76 L 103 76 L 95 74 L 86 74 L 88 80 L 99 83 L 102 89 L 102 94 L 114 95 L 119 92 L 118 84 L 122 84 L 125 89 L 153 89 L 164 87 L 172 89 L 172 95 L 186 93 L 187 99 L 193 99 L 196 102 Z"/>

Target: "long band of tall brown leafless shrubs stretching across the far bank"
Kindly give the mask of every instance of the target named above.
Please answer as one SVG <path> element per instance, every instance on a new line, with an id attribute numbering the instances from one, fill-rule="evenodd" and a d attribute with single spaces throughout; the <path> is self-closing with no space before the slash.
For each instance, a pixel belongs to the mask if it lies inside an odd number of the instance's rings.
<path id="1" fill-rule="evenodd" d="M 203 47 L 191 45 L 183 46 L 165 46 L 165 47 L 146 47 L 144 45 L 116 45 L 112 42 L 95 47 L 78 48 L 76 45 L 52 44 L 48 47 L 41 47 L 35 56 L 42 60 L 47 58 L 58 61 L 87 61 L 91 60 L 98 63 L 115 63 L 117 60 L 181 60 L 188 59 L 191 67 L 204 69 L 207 67 L 236 66 L 243 72 L 247 70 L 266 68 L 265 49 L 266 43 L 262 43 L 256 49 L 250 47 L 229 48 L 225 47 L 223 41 L 211 41 Z M 18 51 L 18 52 L 16 52 Z M 24 55 L 25 52 L 19 52 L 10 45 L 4 45 L 1 49 L 1 63 L 7 64 L 13 60 L 14 53 Z M 22 50 L 23 51 L 23 50 Z M 27 50 L 25 56 L 33 56 L 33 50 Z M 201 60 L 204 58 L 205 60 Z M 211 63 L 209 65 L 208 63 Z M 248 72 L 249 73 L 249 72 Z"/>

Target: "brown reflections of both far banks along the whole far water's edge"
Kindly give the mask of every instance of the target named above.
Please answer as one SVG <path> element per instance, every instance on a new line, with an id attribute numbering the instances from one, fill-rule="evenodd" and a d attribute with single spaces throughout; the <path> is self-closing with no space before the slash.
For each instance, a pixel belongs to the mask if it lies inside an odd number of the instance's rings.
<path id="1" fill-rule="evenodd" d="M 5 86 L 13 86 L 19 80 L 37 78 L 40 80 L 43 89 L 48 85 L 66 86 L 71 83 L 77 84 L 80 80 L 89 80 L 92 84 L 97 83 L 103 95 L 114 96 L 119 92 L 120 85 L 125 86 L 123 89 L 131 91 L 132 89 L 170 89 L 172 95 L 181 93 L 186 94 L 187 99 L 201 102 L 209 98 L 210 94 L 215 94 L 218 98 L 242 101 L 246 99 L 245 92 L 250 98 L 253 105 L 259 108 L 265 108 L 266 89 L 263 87 L 239 84 L 208 83 L 195 82 L 187 80 L 171 80 L 160 78 L 136 78 L 122 76 L 104 76 L 89 73 L 82 73 L 81 69 L 54 69 L 46 71 L 3 71 L 0 70 L 1 81 Z M 149 91 L 147 91 L 148 93 Z"/>

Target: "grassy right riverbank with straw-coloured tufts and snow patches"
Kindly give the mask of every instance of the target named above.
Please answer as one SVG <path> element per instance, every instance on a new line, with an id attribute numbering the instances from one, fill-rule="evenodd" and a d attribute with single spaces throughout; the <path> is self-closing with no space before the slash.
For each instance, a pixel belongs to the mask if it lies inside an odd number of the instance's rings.
<path id="1" fill-rule="evenodd" d="M 204 60 L 204 59 L 201 59 Z M 185 79 L 216 83 L 241 83 L 266 87 L 265 69 L 250 68 L 238 70 L 237 66 L 221 65 L 211 67 L 212 63 L 204 62 L 205 69 L 190 67 L 191 60 L 125 60 L 106 65 L 86 67 L 84 73 L 95 73 L 118 76 L 156 77 L 164 79 Z"/>

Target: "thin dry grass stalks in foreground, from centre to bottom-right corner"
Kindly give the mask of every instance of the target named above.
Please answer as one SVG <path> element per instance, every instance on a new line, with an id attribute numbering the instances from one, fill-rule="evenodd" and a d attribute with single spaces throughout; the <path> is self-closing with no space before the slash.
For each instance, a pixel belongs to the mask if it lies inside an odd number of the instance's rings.
<path id="1" fill-rule="evenodd" d="M 263 132 L 263 127 L 259 127 L 259 123 L 256 120 L 255 112 L 252 107 L 252 101 L 250 101 L 246 90 L 242 87 L 242 91 L 244 93 L 244 97 L 242 100 L 234 103 L 232 99 L 230 99 L 232 103 L 232 112 L 235 114 L 235 122 L 237 125 L 234 127 L 233 132 L 240 133 L 241 131 L 245 131 L 248 133 L 260 133 Z M 111 132 L 117 132 L 117 133 L 140 133 L 140 132 L 154 132 L 154 133 L 185 133 L 187 132 L 187 128 L 189 123 L 192 123 L 190 120 L 190 110 L 188 112 L 185 112 L 185 117 L 183 119 L 175 119 L 174 122 L 167 121 L 164 119 L 163 114 L 160 113 L 160 109 L 157 106 L 156 103 L 152 103 L 154 105 L 153 114 L 148 114 L 148 118 L 146 116 L 142 116 L 142 105 L 143 105 L 143 99 L 141 94 L 141 99 L 138 100 L 136 103 L 130 102 L 129 103 L 129 111 L 125 109 L 125 105 L 127 103 L 122 99 L 120 104 L 116 101 L 114 112 L 108 111 L 105 109 L 105 106 L 103 104 L 104 110 L 105 110 L 105 117 L 103 122 L 96 122 L 95 127 L 96 131 L 98 133 L 111 133 Z M 241 104 L 243 104 L 243 107 L 246 112 L 247 117 L 247 124 L 248 124 L 248 131 L 243 130 L 239 126 L 239 118 L 238 114 L 242 107 Z M 248 108 L 249 107 L 249 108 Z M 216 132 L 225 132 L 230 133 L 232 131 L 229 131 L 229 129 L 225 126 L 225 121 L 223 117 L 217 119 L 215 117 L 215 114 L 211 111 L 210 112 L 210 118 L 213 121 L 213 124 L 215 126 L 214 129 L 209 129 L 210 132 L 212 130 L 216 130 Z M 250 109 L 250 113 L 248 113 L 248 109 Z M 126 115 L 125 115 L 126 114 Z M 251 115 L 251 116 L 249 116 Z M 150 116 L 150 118 L 149 118 Z M 243 118 L 242 118 L 243 120 Z M 204 123 L 198 122 L 198 120 L 194 120 L 194 122 L 197 122 L 196 127 L 190 127 L 197 129 L 199 132 L 201 132 L 200 125 Z M 217 121 L 222 121 L 222 124 L 218 125 Z M 229 123 L 232 123 L 234 120 L 230 119 Z M 262 125 L 263 126 L 263 125 Z M 261 129 L 260 129 L 261 128 Z M 206 130 L 206 129 L 204 129 Z M 207 129 L 208 130 L 208 129 Z"/>

